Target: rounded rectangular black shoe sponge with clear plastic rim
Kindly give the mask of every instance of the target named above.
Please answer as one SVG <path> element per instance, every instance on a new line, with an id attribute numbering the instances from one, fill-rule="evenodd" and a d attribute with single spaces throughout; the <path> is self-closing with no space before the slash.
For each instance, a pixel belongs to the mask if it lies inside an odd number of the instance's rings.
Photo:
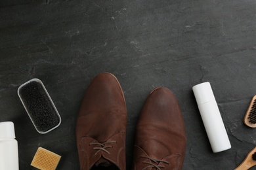
<path id="1" fill-rule="evenodd" d="M 41 80 L 33 78 L 22 84 L 18 96 L 39 133 L 45 134 L 60 125 L 60 114 Z"/>

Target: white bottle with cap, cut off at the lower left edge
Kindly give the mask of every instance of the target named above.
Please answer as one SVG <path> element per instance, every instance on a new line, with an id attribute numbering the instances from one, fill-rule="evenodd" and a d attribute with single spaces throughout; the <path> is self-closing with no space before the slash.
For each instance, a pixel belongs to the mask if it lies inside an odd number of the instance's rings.
<path id="1" fill-rule="evenodd" d="M 18 170 L 18 142 L 14 124 L 0 122 L 0 170 Z"/>

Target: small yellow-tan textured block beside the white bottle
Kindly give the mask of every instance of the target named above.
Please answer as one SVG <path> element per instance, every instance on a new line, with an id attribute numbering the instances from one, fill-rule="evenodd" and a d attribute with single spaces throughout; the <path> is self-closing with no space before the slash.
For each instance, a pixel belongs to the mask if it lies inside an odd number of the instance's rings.
<path id="1" fill-rule="evenodd" d="M 56 169 L 61 156 L 45 148 L 39 147 L 33 157 L 31 165 L 38 169 L 54 170 Z"/>

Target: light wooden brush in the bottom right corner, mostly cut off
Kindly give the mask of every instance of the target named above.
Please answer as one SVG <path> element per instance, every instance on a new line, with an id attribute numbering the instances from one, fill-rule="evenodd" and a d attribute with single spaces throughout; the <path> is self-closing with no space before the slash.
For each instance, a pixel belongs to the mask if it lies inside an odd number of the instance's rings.
<path id="1" fill-rule="evenodd" d="M 234 170 L 249 169 L 256 165 L 256 147 L 247 154 L 245 160 Z"/>

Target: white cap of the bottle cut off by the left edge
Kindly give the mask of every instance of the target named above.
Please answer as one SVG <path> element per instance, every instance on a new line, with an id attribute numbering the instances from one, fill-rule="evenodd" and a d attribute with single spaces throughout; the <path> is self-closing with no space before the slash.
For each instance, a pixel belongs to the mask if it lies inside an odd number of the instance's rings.
<path id="1" fill-rule="evenodd" d="M 15 131 L 13 122 L 0 122 L 0 139 L 14 139 Z"/>

